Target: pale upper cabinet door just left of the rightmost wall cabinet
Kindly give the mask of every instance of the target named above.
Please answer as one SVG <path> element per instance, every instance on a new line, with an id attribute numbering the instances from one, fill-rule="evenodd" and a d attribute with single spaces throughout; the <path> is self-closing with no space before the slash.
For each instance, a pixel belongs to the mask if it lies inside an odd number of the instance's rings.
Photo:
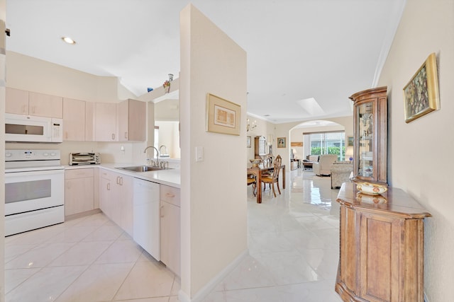
<path id="1" fill-rule="evenodd" d="M 117 141 L 116 103 L 96 103 L 94 116 L 94 140 Z"/>

